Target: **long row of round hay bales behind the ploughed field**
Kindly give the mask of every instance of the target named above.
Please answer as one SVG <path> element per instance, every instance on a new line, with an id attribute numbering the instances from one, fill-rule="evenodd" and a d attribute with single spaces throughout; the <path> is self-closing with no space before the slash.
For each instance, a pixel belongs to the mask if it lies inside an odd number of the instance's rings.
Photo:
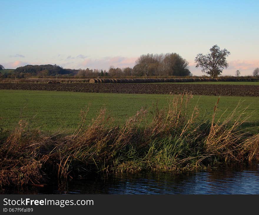
<path id="1" fill-rule="evenodd" d="M 203 81 L 251 81 L 251 79 L 236 78 L 119 78 L 90 79 L 89 83 L 161 83 L 161 82 L 203 82 Z"/>

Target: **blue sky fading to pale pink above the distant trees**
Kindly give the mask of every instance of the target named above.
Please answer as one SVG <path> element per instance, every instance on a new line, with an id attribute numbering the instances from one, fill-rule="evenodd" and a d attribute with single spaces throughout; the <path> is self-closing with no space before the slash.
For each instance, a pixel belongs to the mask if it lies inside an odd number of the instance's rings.
<path id="1" fill-rule="evenodd" d="M 141 54 L 176 52 L 190 71 L 198 53 L 231 52 L 222 75 L 259 67 L 259 1 L 0 0 L 0 64 L 133 67 Z"/>

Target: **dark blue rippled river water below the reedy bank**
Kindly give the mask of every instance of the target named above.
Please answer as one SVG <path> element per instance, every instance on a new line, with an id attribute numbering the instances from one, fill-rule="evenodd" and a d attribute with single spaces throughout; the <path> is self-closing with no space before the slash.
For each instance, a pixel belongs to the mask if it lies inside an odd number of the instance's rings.
<path id="1" fill-rule="evenodd" d="M 259 164 L 192 173 L 137 173 L 97 176 L 39 188 L 61 194 L 259 194 Z"/>

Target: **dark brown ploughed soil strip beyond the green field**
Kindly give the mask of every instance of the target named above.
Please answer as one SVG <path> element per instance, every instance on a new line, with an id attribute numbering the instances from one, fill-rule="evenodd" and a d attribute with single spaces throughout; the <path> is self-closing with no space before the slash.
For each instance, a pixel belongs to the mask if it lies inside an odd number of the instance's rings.
<path id="1" fill-rule="evenodd" d="M 1 90 L 49 90 L 72 92 L 180 94 L 184 90 L 193 95 L 259 96 L 256 85 L 206 84 L 105 84 L 105 83 L 0 83 Z"/>

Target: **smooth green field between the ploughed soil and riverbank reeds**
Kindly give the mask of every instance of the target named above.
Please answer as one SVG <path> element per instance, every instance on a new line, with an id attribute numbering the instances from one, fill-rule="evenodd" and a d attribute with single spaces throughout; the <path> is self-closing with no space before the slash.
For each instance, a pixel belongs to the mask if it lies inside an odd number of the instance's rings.
<path id="1" fill-rule="evenodd" d="M 168 107 L 168 101 L 173 95 L 147 94 L 111 94 L 84 92 L 53 92 L 0 90 L 0 128 L 13 129 L 20 119 L 25 119 L 31 127 L 44 132 L 72 132 L 80 121 L 80 110 L 89 106 L 87 123 L 91 122 L 101 108 L 114 118 L 115 123 L 124 123 L 141 107 L 154 110 L 156 103 L 159 107 Z M 200 118 L 211 118 L 218 96 L 193 96 L 190 101 L 189 113 L 192 112 L 197 100 Z M 259 125 L 258 97 L 220 97 L 219 114 L 228 109 L 233 110 L 238 101 L 245 100 L 242 107 L 248 112 L 255 111 L 251 118 L 252 125 Z M 150 112 L 149 111 L 149 112 Z"/>

